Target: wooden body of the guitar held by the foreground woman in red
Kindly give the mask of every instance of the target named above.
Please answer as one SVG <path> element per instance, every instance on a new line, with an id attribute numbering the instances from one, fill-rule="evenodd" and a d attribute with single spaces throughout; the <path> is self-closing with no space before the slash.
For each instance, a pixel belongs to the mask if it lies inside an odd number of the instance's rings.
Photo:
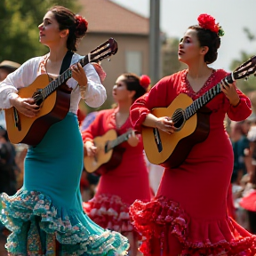
<path id="1" fill-rule="evenodd" d="M 180 93 L 167 108 L 154 108 L 151 113 L 156 117 L 173 116 L 177 109 L 187 108 L 193 100 L 187 94 Z M 191 148 L 204 141 L 209 134 L 211 111 L 202 108 L 179 127 L 179 131 L 168 134 L 157 130 L 161 148 L 157 147 L 153 128 L 142 127 L 142 139 L 148 161 L 164 167 L 175 168 L 184 162 Z M 175 125 L 176 126 L 176 125 Z M 162 149 L 162 150 L 161 150 Z"/>

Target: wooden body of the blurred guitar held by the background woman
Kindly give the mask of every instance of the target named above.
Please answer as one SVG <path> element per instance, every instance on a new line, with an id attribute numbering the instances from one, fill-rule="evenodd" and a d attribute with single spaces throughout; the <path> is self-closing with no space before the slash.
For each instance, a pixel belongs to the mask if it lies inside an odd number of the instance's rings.
<path id="1" fill-rule="evenodd" d="M 116 140 L 117 134 L 115 130 L 109 130 L 103 136 L 95 137 L 93 142 L 97 147 L 96 156 L 84 156 L 84 168 L 86 172 L 98 172 L 102 174 L 104 170 L 112 170 L 116 168 L 122 161 L 125 148 L 112 148 L 106 152 L 108 141 Z"/>

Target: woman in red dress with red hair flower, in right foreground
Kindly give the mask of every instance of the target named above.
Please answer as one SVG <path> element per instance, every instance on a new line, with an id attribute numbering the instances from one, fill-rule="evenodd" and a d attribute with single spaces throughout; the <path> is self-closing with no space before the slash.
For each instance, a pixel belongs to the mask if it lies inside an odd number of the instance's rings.
<path id="1" fill-rule="evenodd" d="M 178 132 L 172 118 L 156 117 L 151 109 L 168 107 L 180 93 L 196 100 L 228 76 L 223 69 L 208 67 L 217 59 L 222 28 L 207 14 L 197 20 L 199 25 L 189 27 L 179 45 L 179 60 L 188 69 L 164 77 L 132 104 L 130 116 L 136 130 L 145 125 L 169 134 Z M 190 150 L 179 167 L 165 168 L 151 202 L 137 200 L 130 208 L 132 223 L 145 238 L 140 247 L 145 256 L 255 253 L 255 236 L 228 217 L 227 195 L 234 161 L 223 125 L 226 114 L 235 121 L 250 116 L 251 102 L 236 84 L 220 86 L 222 92 L 206 105 L 211 110 L 207 138 Z"/>

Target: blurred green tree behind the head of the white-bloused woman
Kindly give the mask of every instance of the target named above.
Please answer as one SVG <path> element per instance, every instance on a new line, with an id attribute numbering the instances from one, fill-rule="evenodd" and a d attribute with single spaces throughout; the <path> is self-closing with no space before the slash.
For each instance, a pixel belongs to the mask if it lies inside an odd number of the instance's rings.
<path id="1" fill-rule="evenodd" d="M 76 12 L 76 0 L 1 0 L 0 1 L 0 61 L 12 60 L 19 63 L 48 51 L 38 44 L 37 26 L 45 12 L 55 4 L 63 5 Z"/>

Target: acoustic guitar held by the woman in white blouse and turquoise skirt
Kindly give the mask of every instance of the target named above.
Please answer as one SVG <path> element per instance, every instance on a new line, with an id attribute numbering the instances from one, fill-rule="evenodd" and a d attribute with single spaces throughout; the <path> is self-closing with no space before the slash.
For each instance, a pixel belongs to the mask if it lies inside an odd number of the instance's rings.
<path id="1" fill-rule="evenodd" d="M 99 62 L 116 54 L 117 49 L 116 41 L 109 38 L 78 62 L 84 67 L 89 62 Z M 49 84 L 48 75 L 42 74 L 37 76 L 32 84 L 20 88 L 18 92 L 20 97 L 33 98 L 36 105 L 40 106 L 40 112 L 35 117 L 28 117 L 18 112 L 16 108 L 4 109 L 6 129 L 12 143 L 36 146 L 44 138 L 50 126 L 68 114 L 71 90 L 66 82 L 71 76 L 72 71 L 68 68 Z"/>

